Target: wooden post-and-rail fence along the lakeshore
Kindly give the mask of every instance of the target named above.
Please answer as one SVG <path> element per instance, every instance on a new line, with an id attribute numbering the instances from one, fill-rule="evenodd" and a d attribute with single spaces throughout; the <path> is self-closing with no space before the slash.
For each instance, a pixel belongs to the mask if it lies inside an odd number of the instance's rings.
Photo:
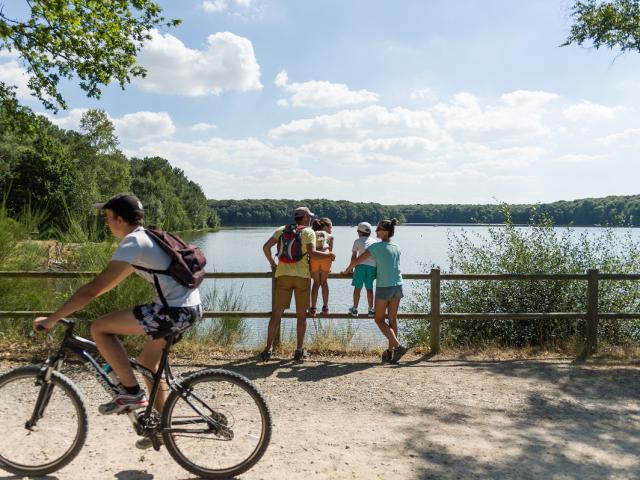
<path id="1" fill-rule="evenodd" d="M 86 278 L 95 276 L 96 272 L 7 272 L 0 271 L 0 279 L 3 278 Z M 429 280 L 431 293 L 431 311 L 402 312 L 398 314 L 400 319 L 421 319 L 430 322 L 430 348 L 431 353 L 440 352 L 440 323 L 443 320 L 586 320 L 586 332 L 584 334 L 584 347 L 580 358 L 595 353 L 598 346 L 598 321 L 607 320 L 631 320 L 640 319 L 640 312 L 614 313 L 600 312 L 598 308 L 598 290 L 600 281 L 630 281 L 640 280 L 640 274 L 600 273 L 598 270 L 589 270 L 586 274 L 547 274 L 547 273 L 513 273 L 513 274 L 450 274 L 440 273 L 439 269 L 432 269 L 430 273 L 409 273 L 402 275 L 405 280 Z M 206 279 L 242 279 L 264 278 L 271 279 L 272 309 L 275 300 L 275 278 L 271 272 L 211 272 L 205 275 Z M 351 275 L 332 273 L 331 279 L 350 279 Z M 440 309 L 440 285 L 442 281 L 586 281 L 587 295 L 585 298 L 585 311 L 583 312 L 539 312 L 539 313 L 443 313 Z M 0 311 L 0 318 L 25 318 L 38 315 L 48 315 L 46 311 Z M 206 311 L 207 318 L 235 317 L 235 318 L 270 318 L 271 312 L 264 311 Z M 295 313 L 285 313 L 285 318 L 295 318 Z M 331 313 L 325 318 L 353 319 L 347 313 Z M 361 314 L 357 318 L 369 318 Z"/>

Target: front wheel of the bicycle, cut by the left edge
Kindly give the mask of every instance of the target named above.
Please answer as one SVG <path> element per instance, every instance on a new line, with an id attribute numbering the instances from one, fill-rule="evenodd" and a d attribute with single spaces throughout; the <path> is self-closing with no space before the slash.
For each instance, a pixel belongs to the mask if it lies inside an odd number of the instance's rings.
<path id="1" fill-rule="evenodd" d="M 0 376 L 0 468 L 20 476 L 61 469 L 87 436 L 87 409 L 77 387 L 59 372 L 50 383 L 41 375 L 31 365 Z"/>

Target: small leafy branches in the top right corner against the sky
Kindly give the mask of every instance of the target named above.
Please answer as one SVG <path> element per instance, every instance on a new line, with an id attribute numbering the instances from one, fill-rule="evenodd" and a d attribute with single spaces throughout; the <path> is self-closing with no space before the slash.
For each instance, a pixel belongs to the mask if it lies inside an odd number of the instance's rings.
<path id="1" fill-rule="evenodd" d="M 640 51 L 640 0 L 578 0 L 571 7 L 574 24 L 566 42 L 594 48 Z"/>

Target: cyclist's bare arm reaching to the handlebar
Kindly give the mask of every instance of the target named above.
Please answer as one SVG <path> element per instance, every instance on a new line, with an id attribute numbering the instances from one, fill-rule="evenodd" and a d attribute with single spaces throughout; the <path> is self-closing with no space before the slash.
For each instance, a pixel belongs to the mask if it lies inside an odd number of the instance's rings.
<path id="1" fill-rule="evenodd" d="M 111 260 L 105 269 L 93 280 L 80 287 L 71 295 L 58 310 L 48 317 L 38 317 L 34 322 L 34 327 L 42 325 L 45 329 L 53 327 L 61 318 L 84 308 L 88 303 L 103 293 L 108 292 L 133 272 L 133 267 L 127 262 Z"/>

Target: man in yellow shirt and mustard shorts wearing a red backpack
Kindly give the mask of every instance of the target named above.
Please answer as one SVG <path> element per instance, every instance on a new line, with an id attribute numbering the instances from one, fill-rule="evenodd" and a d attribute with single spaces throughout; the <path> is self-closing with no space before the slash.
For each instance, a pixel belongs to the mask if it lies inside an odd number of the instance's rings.
<path id="1" fill-rule="evenodd" d="M 271 359 L 273 343 L 280 328 L 284 311 L 291 306 L 291 297 L 296 297 L 296 351 L 294 360 L 301 361 L 306 356 L 303 348 L 304 334 L 307 329 L 307 310 L 311 291 L 311 274 L 309 258 L 330 258 L 335 260 L 333 252 L 316 250 L 316 235 L 309 228 L 313 213 L 307 207 L 299 207 L 294 211 L 295 223 L 278 228 L 273 236 L 262 246 L 262 251 L 271 268 L 275 270 L 276 291 L 273 312 L 267 332 L 267 345 L 260 354 L 263 361 Z M 277 246 L 275 262 L 271 249 Z"/>

